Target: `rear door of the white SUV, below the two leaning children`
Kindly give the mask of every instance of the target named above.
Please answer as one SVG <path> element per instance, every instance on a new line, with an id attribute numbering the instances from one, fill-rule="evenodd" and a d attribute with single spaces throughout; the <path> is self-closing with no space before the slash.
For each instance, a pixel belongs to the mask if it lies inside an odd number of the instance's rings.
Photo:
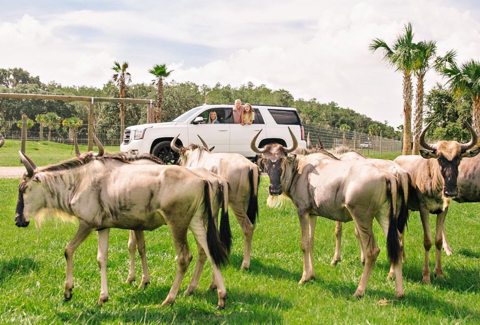
<path id="1" fill-rule="evenodd" d="M 257 141 L 261 141 L 266 137 L 265 122 L 258 108 L 253 108 L 255 118 L 253 123 L 249 125 L 241 125 L 233 123 L 231 116 L 232 108 L 227 108 L 226 122 L 230 125 L 230 152 L 239 153 L 245 157 L 254 157 L 255 152 L 250 149 L 250 141 L 255 134 L 260 130 L 263 131 L 258 136 Z"/>

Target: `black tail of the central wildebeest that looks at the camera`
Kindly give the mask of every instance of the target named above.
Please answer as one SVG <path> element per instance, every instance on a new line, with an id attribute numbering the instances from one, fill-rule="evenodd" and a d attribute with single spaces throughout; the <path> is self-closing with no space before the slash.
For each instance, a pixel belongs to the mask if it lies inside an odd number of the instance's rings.
<path id="1" fill-rule="evenodd" d="M 392 177 L 393 182 L 396 182 Z M 386 235 L 386 251 L 390 262 L 394 265 L 398 262 L 401 256 L 400 240 L 398 238 L 398 220 L 394 213 L 396 206 L 396 186 L 393 187 L 391 180 L 386 178 L 386 196 L 390 203 L 390 210 L 388 212 L 388 232 Z"/>

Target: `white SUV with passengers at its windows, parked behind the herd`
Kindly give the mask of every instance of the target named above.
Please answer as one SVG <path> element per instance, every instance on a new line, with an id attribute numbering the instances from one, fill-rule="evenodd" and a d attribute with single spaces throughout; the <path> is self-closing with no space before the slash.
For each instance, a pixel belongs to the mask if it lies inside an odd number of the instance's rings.
<path id="1" fill-rule="evenodd" d="M 207 105 L 192 108 L 171 122 L 133 125 L 125 128 L 120 151 L 129 153 L 152 153 L 165 163 L 174 163 L 178 158 L 170 149 L 171 140 L 177 135 L 177 146 L 189 143 L 201 144 L 197 134 L 214 152 L 236 152 L 254 159 L 250 149 L 253 136 L 258 136 L 258 147 L 268 143 L 292 144 L 288 126 L 298 140 L 298 146 L 306 147 L 303 126 L 295 108 L 274 105 L 252 105 L 255 119 L 252 124 L 233 123 L 232 104 Z M 208 114 L 215 111 L 218 123 L 205 123 Z"/>

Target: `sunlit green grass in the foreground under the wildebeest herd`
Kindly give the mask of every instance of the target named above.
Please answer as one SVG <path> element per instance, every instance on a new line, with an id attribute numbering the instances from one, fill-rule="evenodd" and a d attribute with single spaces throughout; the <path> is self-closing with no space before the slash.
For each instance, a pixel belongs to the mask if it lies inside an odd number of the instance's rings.
<path id="1" fill-rule="evenodd" d="M 112 229 L 108 256 L 110 299 L 96 307 L 100 274 L 96 236 L 91 234 L 73 257 L 73 298 L 63 301 L 63 248 L 76 225 L 48 221 L 40 229 L 14 225 L 18 179 L 0 179 L 0 323 L 478 323 L 480 322 L 480 246 L 478 204 L 452 203 L 446 230 L 453 255 L 442 254 L 444 278 L 421 283 L 423 236 L 418 213 L 412 213 L 405 236 L 403 264 L 405 297 L 393 298 L 394 281 L 385 238 L 374 223 L 381 252 L 365 297 L 352 297 L 362 265 L 353 224 L 343 228 L 342 261 L 329 262 L 334 249 L 334 222 L 318 218 L 314 264 L 317 278 L 303 285 L 300 229 L 291 202 L 281 209 L 265 206 L 268 179 L 262 177 L 260 215 L 253 235 L 250 270 L 240 271 L 243 240 L 233 214 L 231 263 L 222 268 L 229 299 L 215 310 L 216 292 L 208 291 L 211 268 L 205 266 L 192 296 L 179 294 L 172 306 L 159 307 L 172 284 L 176 263 L 167 227 L 145 234 L 151 284 L 145 289 L 124 283 L 128 272 L 126 230 Z M 434 229 L 435 218 L 431 218 Z M 186 289 L 196 261 L 182 282 Z M 140 265 L 137 258 L 137 278 Z M 434 250 L 430 253 L 434 267 Z"/>

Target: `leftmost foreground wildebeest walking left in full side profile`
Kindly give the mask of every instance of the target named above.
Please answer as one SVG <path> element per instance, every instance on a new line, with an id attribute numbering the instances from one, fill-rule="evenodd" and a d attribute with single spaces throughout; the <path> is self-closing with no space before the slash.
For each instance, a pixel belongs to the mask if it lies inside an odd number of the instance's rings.
<path id="1" fill-rule="evenodd" d="M 226 290 L 218 265 L 228 255 L 213 220 L 208 181 L 179 166 L 131 164 L 121 157 L 98 157 L 92 152 L 40 169 L 21 152 L 20 158 L 27 171 L 18 186 L 15 224 L 27 226 L 30 218 L 39 224 L 49 215 L 79 220 L 78 230 L 65 248 L 65 299 L 72 296 L 73 252 L 93 230 L 98 231 L 101 304 L 108 299 L 109 228 L 152 230 L 167 224 L 178 260 L 173 284 L 162 304 L 173 303 L 191 260 L 186 240 L 190 229 L 210 261 L 218 307 L 224 307 Z"/>

